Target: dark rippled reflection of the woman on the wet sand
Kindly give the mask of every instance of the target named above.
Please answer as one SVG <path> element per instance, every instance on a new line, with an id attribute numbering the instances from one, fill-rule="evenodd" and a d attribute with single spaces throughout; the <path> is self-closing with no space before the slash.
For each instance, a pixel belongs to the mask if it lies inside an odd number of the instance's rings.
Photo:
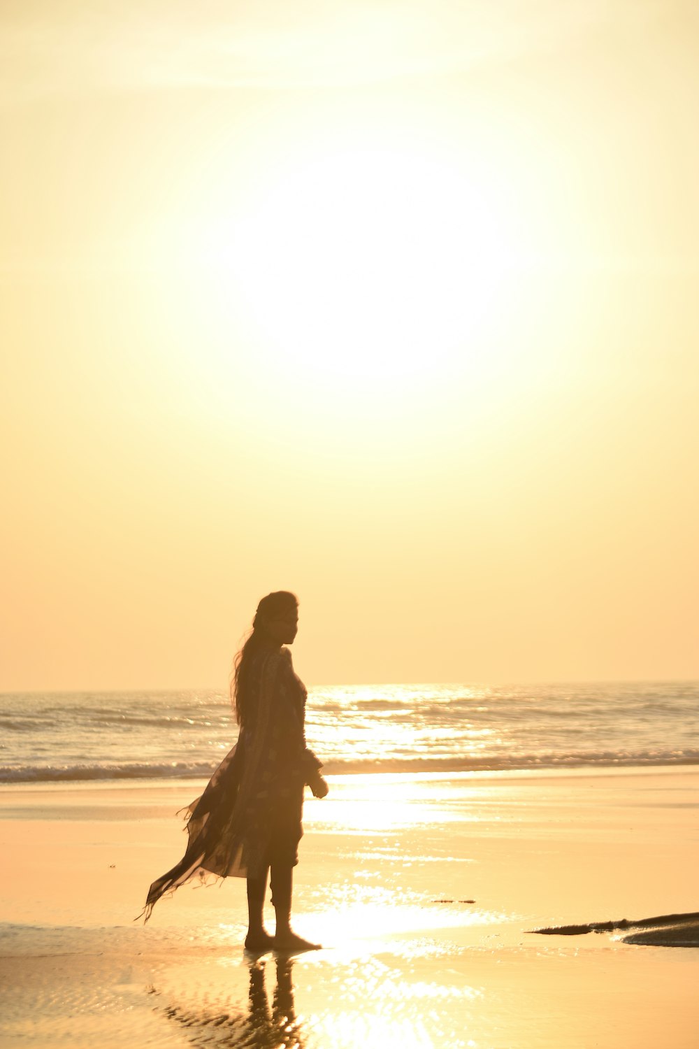
<path id="1" fill-rule="evenodd" d="M 250 1049 L 282 1049 L 294 1046 L 304 1049 L 305 1041 L 301 1023 L 293 1011 L 293 984 L 291 969 L 293 958 L 276 959 L 277 986 L 271 1009 L 265 987 L 264 959 L 249 962 L 249 989 L 247 1011 L 222 1012 L 215 1007 L 192 1008 L 177 1005 L 157 1005 L 155 1010 L 165 1013 L 177 1024 L 193 1046 L 249 1046 Z M 156 988 L 151 993 L 159 996 Z"/>

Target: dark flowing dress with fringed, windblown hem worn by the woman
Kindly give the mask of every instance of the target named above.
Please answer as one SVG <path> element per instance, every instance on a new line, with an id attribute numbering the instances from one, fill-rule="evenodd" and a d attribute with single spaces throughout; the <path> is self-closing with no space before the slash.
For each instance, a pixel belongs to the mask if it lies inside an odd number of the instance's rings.
<path id="1" fill-rule="evenodd" d="M 270 863 L 298 863 L 304 786 L 323 767 L 306 746 L 306 689 L 288 648 L 250 659 L 248 720 L 188 807 L 187 852 L 151 885 L 146 921 L 161 896 L 195 875 L 258 878 Z"/>

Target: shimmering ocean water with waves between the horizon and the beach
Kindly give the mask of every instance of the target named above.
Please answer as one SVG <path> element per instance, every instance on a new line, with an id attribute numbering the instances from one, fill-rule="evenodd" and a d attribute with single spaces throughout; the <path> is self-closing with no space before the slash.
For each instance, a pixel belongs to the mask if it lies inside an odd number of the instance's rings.
<path id="1" fill-rule="evenodd" d="M 699 764 L 699 683 L 334 685 L 309 689 L 325 771 Z M 207 776 L 236 742 L 216 690 L 0 695 L 0 782 Z"/>

